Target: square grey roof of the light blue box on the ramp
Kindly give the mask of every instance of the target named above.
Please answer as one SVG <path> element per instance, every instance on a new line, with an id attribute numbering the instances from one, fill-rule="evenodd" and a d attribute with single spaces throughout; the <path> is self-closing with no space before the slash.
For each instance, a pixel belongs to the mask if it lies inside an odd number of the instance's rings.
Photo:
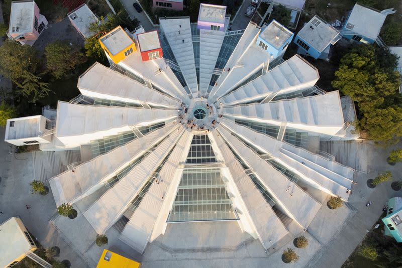
<path id="1" fill-rule="evenodd" d="M 292 35 L 292 32 L 275 20 L 273 20 L 265 29 L 262 29 L 260 33 L 262 39 L 277 49 L 282 47 L 282 45 L 288 41 L 289 37 Z"/>

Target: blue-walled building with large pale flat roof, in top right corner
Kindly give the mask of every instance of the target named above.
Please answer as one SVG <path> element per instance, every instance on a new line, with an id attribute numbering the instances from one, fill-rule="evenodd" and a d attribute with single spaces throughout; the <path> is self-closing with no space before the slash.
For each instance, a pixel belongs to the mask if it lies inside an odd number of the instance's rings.
<path id="1" fill-rule="evenodd" d="M 387 15 L 396 10 L 378 11 L 360 4 L 355 4 L 346 19 L 342 36 L 355 42 L 372 44 L 376 42 Z"/>

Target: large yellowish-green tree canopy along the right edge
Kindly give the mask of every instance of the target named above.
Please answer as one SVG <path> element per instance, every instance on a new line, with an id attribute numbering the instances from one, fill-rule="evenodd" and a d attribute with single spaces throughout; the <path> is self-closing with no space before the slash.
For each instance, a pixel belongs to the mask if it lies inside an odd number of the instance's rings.
<path id="1" fill-rule="evenodd" d="M 358 105 L 357 128 L 367 139 L 390 143 L 402 136 L 402 105 L 395 71 L 397 57 L 372 45 L 354 47 L 335 72 L 334 88 Z"/>

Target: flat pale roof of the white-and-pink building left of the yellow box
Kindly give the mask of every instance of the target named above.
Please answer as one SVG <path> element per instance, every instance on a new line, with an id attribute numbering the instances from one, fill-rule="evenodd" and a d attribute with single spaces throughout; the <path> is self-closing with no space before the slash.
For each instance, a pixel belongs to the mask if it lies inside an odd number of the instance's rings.
<path id="1" fill-rule="evenodd" d="M 91 23 L 97 22 L 98 19 L 86 4 L 82 4 L 77 9 L 67 14 L 67 16 L 85 38 L 93 34 L 93 32 L 89 31 L 89 26 Z"/>

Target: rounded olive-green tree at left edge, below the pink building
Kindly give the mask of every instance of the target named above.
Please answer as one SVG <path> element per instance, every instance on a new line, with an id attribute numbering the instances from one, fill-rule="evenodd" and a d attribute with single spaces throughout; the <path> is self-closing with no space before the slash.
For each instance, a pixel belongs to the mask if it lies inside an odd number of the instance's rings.
<path id="1" fill-rule="evenodd" d="M 26 72 L 37 73 L 41 63 L 37 50 L 11 40 L 0 46 L 0 55 L 0 73 L 14 83 L 21 82 Z"/>

